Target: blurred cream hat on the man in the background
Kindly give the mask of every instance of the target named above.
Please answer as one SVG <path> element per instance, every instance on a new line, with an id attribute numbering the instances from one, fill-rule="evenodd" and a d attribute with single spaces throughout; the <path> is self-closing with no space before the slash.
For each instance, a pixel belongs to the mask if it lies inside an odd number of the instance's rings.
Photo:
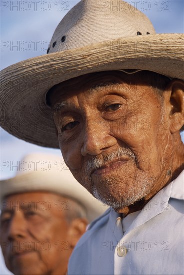
<path id="1" fill-rule="evenodd" d="M 89 222 L 108 209 L 76 181 L 64 160 L 56 155 L 29 154 L 20 162 L 15 177 L 1 180 L 1 209 L 7 196 L 34 191 L 56 193 L 78 202 L 85 209 Z"/>

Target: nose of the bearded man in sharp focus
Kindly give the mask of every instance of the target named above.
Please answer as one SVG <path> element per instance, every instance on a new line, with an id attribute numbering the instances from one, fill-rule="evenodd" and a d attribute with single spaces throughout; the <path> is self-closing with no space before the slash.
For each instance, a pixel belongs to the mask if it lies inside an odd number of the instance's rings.
<path id="1" fill-rule="evenodd" d="M 116 138 L 109 133 L 108 125 L 104 127 L 103 122 L 91 119 L 84 130 L 81 154 L 98 155 L 116 143 Z"/>

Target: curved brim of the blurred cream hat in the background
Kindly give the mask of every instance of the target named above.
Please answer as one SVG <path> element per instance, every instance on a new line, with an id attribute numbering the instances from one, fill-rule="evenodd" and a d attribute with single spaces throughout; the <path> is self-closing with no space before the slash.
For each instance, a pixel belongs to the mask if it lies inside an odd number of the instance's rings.
<path id="1" fill-rule="evenodd" d="M 25 174 L 19 174 L 11 179 L 0 181 L 0 207 L 2 209 L 3 200 L 6 196 L 26 193 L 26 192 L 51 192 L 61 195 L 64 198 L 70 198 L 86 210 L 86 217 L 89 222 L 101 215 L 108 206 L 95 199 L 82 185 L 80 185 L 73 176 L 66 171 L 58 173 L 55 171 L 33 171 Z M 65 183 L 63 183 L 65 177 Z M 66 178 L 67 177 L 67 178 Z M 66 206 L 63 204 L 63 207 Z"/>

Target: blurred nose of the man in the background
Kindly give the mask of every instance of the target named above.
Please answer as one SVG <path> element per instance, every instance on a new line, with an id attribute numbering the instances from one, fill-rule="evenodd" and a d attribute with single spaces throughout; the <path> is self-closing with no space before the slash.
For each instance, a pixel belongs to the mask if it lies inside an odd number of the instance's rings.
<path id="1" fill-rule="evenodd" d="M 14 215 L 7 228 L 8 240 L 18 240 L 26 236 L 26 220 L 23 215 Z"/>

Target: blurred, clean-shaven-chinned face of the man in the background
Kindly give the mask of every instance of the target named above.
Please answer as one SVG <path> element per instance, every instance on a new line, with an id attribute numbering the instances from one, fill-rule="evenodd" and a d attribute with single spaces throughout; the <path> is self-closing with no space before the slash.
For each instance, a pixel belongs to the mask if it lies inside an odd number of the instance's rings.
<path id="1" fill-rule="evenodd" d="M 0 244 L 13 274 L 66 273 L 69 225 L 59 201 L 59 195 L 44 192 L 11 195 L 3 201 Z"/>

